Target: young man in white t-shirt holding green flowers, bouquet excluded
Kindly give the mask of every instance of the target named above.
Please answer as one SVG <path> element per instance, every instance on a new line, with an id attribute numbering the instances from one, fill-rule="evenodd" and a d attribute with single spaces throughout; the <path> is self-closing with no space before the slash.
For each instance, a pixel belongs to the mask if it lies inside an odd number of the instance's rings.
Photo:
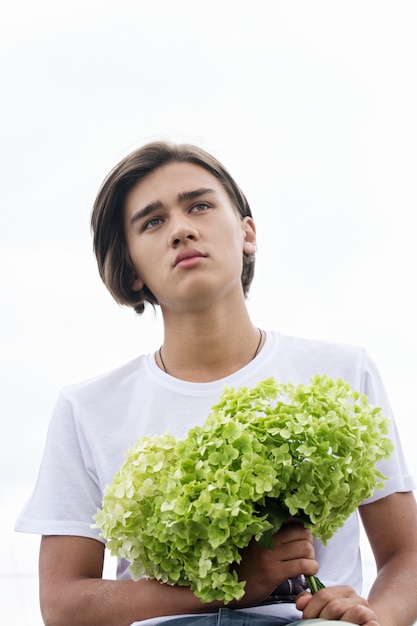
<path id="1" fill-rule="evenodd" d="M 40 593 L 45 624 L 129 626 L 175 619 L 178 626 L 288 624 L 341 620 L 406 626 L 417 618 L 417 510 L 395 424 L 395 453 L 381 463 L 383 491 L 360 507 L 378 574 L 360 596 L 358 515 L 324 547 L 302 525 L 275 535 L 274 550 L 252 542 L 239 575 L 245 595 L 226 609 L 202 604 L 186 587 L 133 582 L 121 562 L 103 580 L 104 544 L 91 528 L 103 489 L 125 451 L 146 434 L 175 436 L 203 423 L 225 384 L 307 383 L 342 377 L 390 414 L 379 374 L 362 349 L 258 329 L 245 304 L 256 230 L 245 196 L 224 167 L 193 146 L 154 143 L 125 158 L 105 180 L 93 210 L 99 271 L 122 304 L 142 313 L 158 304 L 162 346 L 115 372 L 62 391 L 52 416 L 38 483 L 17 529 L 43 535 Z M 326 588 L 294 602 L 274 590 L 301 574 Z M 281 598 L 284 600 L 284 597 Z M 202 617 L 202 614 L 205 617 Z M 180 616 L 191 617 L 180 617 Z"/>

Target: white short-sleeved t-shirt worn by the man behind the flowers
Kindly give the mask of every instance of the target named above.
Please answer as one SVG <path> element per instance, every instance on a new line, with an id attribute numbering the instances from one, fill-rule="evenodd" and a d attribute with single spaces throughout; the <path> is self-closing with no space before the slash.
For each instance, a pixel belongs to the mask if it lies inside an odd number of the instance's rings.
<path id="1" fill-rule="evenodd" d="M 34 492 L 16 530 L 42 535 L 76 535 L 99 539 L 92 529 L 104 487 L 138 438 L 169 431 L 184 437 L 202 424 L 225 385 L 251 387 L 274 376 L 277 381 L 308 384 L 314 374 L 341 377 L 391 417 L 380 375 L 362 348 L 268 332 L 258 356 L 221 380 L 190 383 L 161 371 L 153 354 L 144 355 L 93 380 L 62 390 L 48 430 Z M 379 467 L 387 480 L 366 503 L 415 488 L 406 466 L 395 423 L 390 426 L 395 452 Z M 315 541 L 319 578 L 327 585 L 349 584 L 360 593 L 362 571 L 359 520 L 352 515 L 324 547 Z M 121 561 L 118 578 L 128 578 Z M 259 612 L 259 607 L 257 607 Z M 293 605 L 269 605 L 275 615 L 299 618 Z M 262 607 L 265 611 L 265 607 Z M 162 620 L 161 620 L 162 621 Z"/>

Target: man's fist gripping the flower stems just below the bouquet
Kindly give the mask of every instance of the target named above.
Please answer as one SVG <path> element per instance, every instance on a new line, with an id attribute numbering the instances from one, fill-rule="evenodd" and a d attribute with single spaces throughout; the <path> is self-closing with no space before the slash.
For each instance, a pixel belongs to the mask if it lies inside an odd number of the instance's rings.
<path id="1" fill-rule="evenodd" d="M 285 524 L 274 535 L 272 550 L 252 541 L 242 557 L 237 572 L 240 580 L 246 580 L 246 587 L 239 606 L 259 604 L 287 578 L 314 575 L 318 570 L 312 534 L 299 523 Z"/>

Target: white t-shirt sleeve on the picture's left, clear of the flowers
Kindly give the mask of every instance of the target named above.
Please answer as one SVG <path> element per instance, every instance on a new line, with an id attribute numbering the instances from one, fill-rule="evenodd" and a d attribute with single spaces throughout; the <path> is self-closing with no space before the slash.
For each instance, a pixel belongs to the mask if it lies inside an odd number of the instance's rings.
<path id="1" fill-rule="evenodd" d="M 17 531 L 99 539 L 99 530 L 91 524 L 102 492 L 87 456 L 72 403 L 61 393 L 35 489 L 17 521 Z"/>

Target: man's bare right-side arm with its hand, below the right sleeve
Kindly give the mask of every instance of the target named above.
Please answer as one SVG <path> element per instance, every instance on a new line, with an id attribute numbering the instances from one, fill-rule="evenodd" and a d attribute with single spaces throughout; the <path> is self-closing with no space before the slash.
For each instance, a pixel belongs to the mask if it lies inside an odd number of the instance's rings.
<path id="1" fill-rule="evenodd" d="M 305 619 L 321 617 L 366 626 L 411 626 L 417 619 L 417 507 L 414 496 L 395 493 L 360 509 L 377 566 L 368 600 L 351 587 L 300 595 Z"/>

